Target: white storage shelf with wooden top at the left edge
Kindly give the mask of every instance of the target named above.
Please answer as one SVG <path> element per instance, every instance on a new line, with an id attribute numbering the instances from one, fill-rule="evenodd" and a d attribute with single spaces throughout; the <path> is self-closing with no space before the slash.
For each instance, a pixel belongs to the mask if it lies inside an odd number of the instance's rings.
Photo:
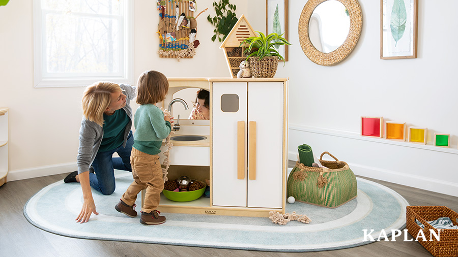
<path id="1" fill-rule="evenodd" d="M 0 186 L 8 175 L 8 108 L 0 107 Z"/>

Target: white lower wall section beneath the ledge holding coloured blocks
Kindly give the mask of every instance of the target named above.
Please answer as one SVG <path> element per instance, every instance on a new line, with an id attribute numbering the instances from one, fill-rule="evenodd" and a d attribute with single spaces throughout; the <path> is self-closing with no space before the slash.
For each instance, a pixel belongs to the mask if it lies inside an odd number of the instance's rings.
<path id="1" fill-rule="evenodd" d="M 355 175 L 458 197 L 458 179 L 450 168 L 458 162 L 456 149 L 290 124 L 289 159 L 297 160 L 297 146 L 303 143 L 317 157 L 331 152 L 347 162 Z"/>

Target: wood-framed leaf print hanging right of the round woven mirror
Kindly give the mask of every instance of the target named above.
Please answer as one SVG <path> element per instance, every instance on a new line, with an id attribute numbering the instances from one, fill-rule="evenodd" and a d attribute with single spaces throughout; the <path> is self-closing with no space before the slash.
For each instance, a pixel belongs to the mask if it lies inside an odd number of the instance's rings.
<path id="1" fill-rule="evenodd" d="M 380 58 L 416 58 L 418 0 L 380 0 L 380 5 Z"/>

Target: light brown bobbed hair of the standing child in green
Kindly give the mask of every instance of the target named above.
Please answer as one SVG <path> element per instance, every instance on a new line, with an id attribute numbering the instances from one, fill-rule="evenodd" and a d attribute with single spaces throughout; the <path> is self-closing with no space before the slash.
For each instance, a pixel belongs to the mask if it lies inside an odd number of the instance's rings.
<path id="1" fill-rule="evenodd" d="M 164 100 L 168 93 L 168 80 L 157 71 L 147 71 L 138 77 L 137 100 L 139 105 L 156 104 Z"/>

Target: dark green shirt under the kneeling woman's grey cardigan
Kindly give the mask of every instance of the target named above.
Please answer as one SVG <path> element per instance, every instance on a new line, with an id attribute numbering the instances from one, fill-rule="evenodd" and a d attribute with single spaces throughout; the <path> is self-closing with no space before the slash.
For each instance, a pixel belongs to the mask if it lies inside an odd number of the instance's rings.
<path id="1" fill-rule="evenodd" d="M 124 142 L 124 131 L 130 119 L 123 109 L 116 110 L 112 115 L 103 114 L 103 138 L 98 152 L 120 147 Z"/>

